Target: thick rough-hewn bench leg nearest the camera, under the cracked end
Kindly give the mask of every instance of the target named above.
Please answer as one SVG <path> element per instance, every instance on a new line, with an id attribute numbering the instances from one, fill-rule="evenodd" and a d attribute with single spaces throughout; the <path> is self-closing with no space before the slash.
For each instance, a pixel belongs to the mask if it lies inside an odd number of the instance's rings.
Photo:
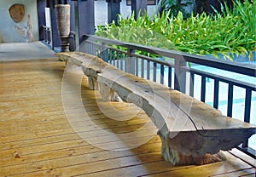
<path id="1" fill-rule="evenodd" d="M 217 154 L 206 154 L 203 157 L 184 156 L 181 152 L 173 150 L 169 145 L 166 136 L 163 136 L 160 131 L 158 135 L 161 139 L 161 155 L 166 162 L 170 162 L 173 165 L 202 165 L 207 163 L 217 163 L 225 160 L 224 154 L 219 151 Z"/>

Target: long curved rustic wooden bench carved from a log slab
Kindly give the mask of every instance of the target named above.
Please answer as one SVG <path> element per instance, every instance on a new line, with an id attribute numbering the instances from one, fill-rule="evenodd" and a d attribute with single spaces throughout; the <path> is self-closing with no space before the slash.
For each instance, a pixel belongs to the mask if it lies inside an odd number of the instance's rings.
<path id="1" fill-rule="evenodd" d="M 145 111 L 159 129 L 164 159 L 177 164 L 205 164 L 224 160 L 219 152 L 240 145 L 256 126 L 234 118 L 195 100 L 189 95 L 133 76 L 84 53 L 58 53 L 60 60 L 80 66 L 90 89 L 99 84 L 102 100 L 134 103 Z"/>

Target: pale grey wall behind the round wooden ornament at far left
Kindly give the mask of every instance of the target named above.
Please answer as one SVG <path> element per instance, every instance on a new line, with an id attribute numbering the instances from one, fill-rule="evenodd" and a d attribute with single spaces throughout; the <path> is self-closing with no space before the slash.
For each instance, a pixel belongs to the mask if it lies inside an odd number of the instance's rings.
<path id="1" fill-rule="evenodd" d="M 21 3 L 25 6 L 24 19 L 19 23 L 15 23 L 9 16 L 9 7 L 14 3 Z M 24 37 L 21 37 L 15 31 L 15 25 L 26 26 L 27 14 L 31 14 L 32 29 L 34 41 L 38 40 L 38 11 L 37 0 L 0 0 L 0 43 L 20 43 L 26 42 Z"/>

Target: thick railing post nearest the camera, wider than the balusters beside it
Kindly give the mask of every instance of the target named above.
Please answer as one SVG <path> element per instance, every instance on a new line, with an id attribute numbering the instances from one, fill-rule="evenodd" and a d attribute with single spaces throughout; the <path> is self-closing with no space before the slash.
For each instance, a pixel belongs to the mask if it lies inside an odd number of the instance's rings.
<path id="1" fill-rule="evenodd" d="M 186 71 L 182 69 L 182 67 L 187 66 L 187 62 L 181 59 L 175 59 L 174 62 L 174 89 L 185 93 L 186 91 Z"/>

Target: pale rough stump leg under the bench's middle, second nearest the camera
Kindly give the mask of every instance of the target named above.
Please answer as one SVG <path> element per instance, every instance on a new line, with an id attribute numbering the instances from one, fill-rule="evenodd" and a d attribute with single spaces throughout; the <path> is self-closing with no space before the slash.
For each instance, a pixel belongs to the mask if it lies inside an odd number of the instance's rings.
<path id="1" fill-rule="evenodd" d="M 102 100 L 107 101 L 120 101 L 119 95 L 116 94 L 113 89 L 108 88 L 108 86 L 105 83 L 99 83 L 100 85 L 100 94 L 102 94 Z"/>

